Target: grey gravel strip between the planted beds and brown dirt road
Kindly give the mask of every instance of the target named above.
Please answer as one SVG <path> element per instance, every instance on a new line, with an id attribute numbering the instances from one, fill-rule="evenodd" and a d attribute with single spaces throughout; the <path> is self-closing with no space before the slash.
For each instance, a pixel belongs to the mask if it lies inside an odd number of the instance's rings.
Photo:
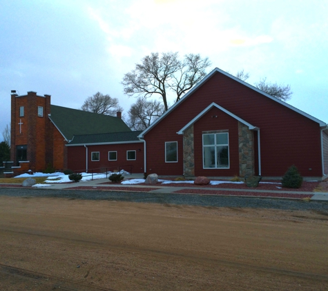
<path id="1" fill-rule="evenodd" d="M 144 192 L 115 192 L 88 190 L 48 190 L 30 188 L 0 188 L 0 196 L 11 197 L 56 197 L 66 199 L 88 199 L 109 201 L 130 201 L 141 203 L 162 203 L 200 205 L 206 207 L 271 208 L 280 210 L 315 210 L 328 214 L 328 203 L 323 201 L 302 201 L 292 199 L 269 199 L 255 197 L 222 197 L 213 195 L 155 194 Z"/>

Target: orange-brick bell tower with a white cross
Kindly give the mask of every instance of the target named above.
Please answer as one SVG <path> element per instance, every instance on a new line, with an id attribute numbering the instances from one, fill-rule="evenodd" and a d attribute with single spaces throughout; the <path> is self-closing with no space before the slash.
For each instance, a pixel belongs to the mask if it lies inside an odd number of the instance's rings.
<path id="1" fill-rule="evenodd" d="M 50 119 L 50 95 L 28 92 L 19 96 L 11 94 L 11 150 L 14 166 L 19 161 L 27 163 L 32 171 L 46 169 L 52 163 L 52 128 Z"/>

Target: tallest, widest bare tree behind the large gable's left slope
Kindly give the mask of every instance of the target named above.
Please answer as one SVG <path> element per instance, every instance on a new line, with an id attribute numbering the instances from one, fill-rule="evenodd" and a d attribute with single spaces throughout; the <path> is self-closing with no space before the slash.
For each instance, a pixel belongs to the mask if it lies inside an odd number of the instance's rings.
<path id="1" fill-rule="evenodd" d="M 177 52 L 152 52 L 135 66 L 135 70 L 124 74 L 122 84 L 128 96 L 151 97 L 157 94 L 168 110 L 168 91 L 175 93 L 175 102 L 206 75 L 211 66 L 208 58 L 200 54 L 186 54 L 183 60 Z"/>

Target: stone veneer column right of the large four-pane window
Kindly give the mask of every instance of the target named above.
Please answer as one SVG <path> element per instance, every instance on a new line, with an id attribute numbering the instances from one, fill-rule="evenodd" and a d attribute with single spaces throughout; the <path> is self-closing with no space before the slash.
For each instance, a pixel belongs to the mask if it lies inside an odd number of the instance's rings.
<path id="1" fill-rule="evenodd" d="M 240 177 L 253 176 L 254 167 L 254 136 L 248 126 L 238 121 L 239 144 L 239 175 Z"/>

